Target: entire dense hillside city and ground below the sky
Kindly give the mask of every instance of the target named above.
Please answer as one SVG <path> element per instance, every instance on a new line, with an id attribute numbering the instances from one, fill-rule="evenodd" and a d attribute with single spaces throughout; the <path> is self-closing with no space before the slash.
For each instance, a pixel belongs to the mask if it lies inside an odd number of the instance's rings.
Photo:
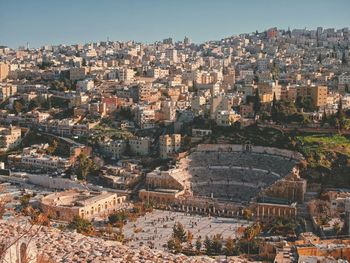
<path id="1" fill-rule="evenodd" d="M 0 46 L 0 262 L 348 262 L 349 47 Z"/>

